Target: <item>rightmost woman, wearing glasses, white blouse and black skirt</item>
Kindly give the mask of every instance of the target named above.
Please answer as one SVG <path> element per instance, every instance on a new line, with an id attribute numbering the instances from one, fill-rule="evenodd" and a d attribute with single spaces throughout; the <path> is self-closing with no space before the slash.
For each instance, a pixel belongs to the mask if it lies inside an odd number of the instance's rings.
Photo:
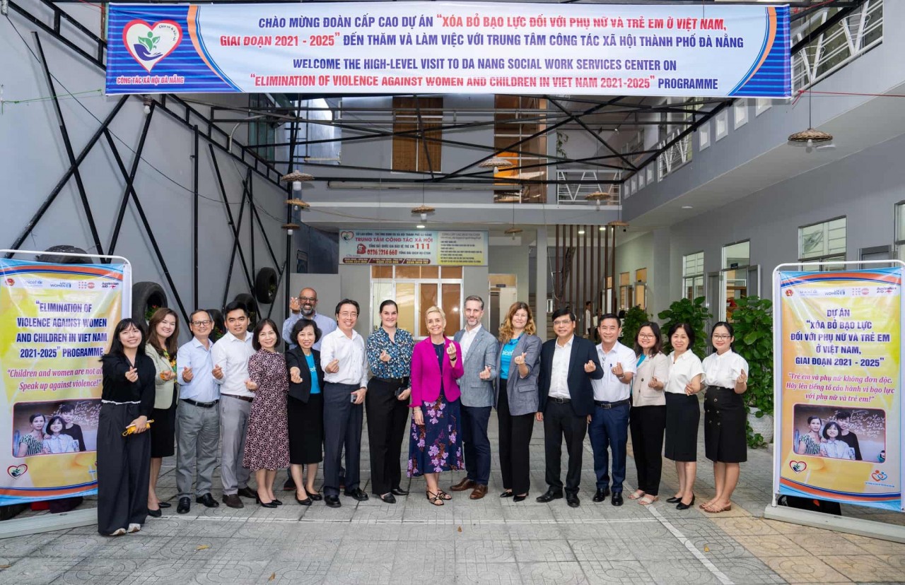
<path id="1" fill-rule="evenodd" d="M 715 354 L 704 358 L 704 451 L 713 461 L 717 493 L 700 507 L 719 513 L 732 509 L 732 492 L 738 485 L 738 464 L 748 460 L 745 439 L 747 412 L 741 395 L 748 390 L 748 362 L 732 351 L 732 326 L 720 321 L 710 332 Z"/>

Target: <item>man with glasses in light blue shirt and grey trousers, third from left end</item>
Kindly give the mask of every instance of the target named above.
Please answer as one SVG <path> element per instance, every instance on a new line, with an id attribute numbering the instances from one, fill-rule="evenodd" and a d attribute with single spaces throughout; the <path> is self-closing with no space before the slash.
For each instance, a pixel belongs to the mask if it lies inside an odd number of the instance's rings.
<path id="1" fill-rule="evenodd" d="M 176 512 L 186 514 L 191 505 L 192 478 L 197 463 L 198 481 L 195 502 L 209 508 L 220 505 L 211 496 L 212 477 L 217 464 L 220 445 L 220 387 L 214 383 L 209 339 L 214 320 L 204 309 L 188 317 L 194 335 L 176 353 L 176 372 L 179 374 L 179 404 L 176 410 L 176 489 L 179 505 Z"/>

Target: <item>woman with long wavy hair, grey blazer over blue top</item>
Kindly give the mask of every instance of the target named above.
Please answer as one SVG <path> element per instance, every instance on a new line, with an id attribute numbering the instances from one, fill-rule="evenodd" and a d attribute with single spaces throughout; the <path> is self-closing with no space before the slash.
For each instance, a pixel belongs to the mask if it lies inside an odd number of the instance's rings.
<path id="1" fill-rule="evenodd" d="M 538 411 L 540 337 L 531 307 L 516 302 L 500 324 L 497 372 L 497 420 L 500 422 L 500 471 L 503 493 L 521 502 L 530 486 L 529 443 Z"/>

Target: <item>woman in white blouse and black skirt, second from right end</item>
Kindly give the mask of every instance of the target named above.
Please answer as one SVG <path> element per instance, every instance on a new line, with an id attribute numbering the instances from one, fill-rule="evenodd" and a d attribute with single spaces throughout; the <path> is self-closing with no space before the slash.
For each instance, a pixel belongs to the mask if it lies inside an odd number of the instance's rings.
<path id="1" fill-rule="evenodd" d="M 687 323 L 670 327 L 670 377 L 666 381 L 666 445 L 663 455 L 676 462 L 679 491 L 667 502 L 678 510 L 694 505 L 694 477 L 698 473 L 698 392 L 704 369 L 691 352 L 694 329 Z"/>

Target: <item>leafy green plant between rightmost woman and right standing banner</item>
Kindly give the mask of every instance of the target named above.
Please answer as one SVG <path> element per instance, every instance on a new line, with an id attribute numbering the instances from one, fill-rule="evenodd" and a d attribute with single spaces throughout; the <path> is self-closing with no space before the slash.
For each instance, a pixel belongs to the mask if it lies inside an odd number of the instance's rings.
<path id="1" fill-rule="evenodd" d="M 748 446 L 773 440 L 773 303 L 767 298 L 741 297 L 732 312 L 734 351 L 748 362 Z"/>

